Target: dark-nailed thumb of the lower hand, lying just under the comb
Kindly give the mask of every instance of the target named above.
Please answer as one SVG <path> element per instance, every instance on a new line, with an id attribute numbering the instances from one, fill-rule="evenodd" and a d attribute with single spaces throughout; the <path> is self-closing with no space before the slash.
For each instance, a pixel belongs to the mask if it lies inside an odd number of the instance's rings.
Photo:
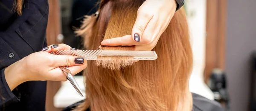
<path id="1" fill-rule="evenodd" d="M 60 67 L 60 66 L 77 66 L 86 64 L 86 61 L 84 62 L 84 58 L 73 56 L 73 55 L 52 55 L 52 59 L 54 60 L 54 66 Z"/>

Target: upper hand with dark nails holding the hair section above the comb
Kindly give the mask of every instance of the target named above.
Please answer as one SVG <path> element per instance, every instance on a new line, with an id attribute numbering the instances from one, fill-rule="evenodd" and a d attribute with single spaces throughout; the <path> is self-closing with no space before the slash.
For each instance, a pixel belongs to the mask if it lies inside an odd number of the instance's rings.
<path id="1" fill-rule="evenodd" d="M 175 0 L 146 0 L 137 12 L 131 35 L 106 39 L 101 45 L 136 45 L 136 50 L 152 50 L 169 25 L 175 11 Z"/>

